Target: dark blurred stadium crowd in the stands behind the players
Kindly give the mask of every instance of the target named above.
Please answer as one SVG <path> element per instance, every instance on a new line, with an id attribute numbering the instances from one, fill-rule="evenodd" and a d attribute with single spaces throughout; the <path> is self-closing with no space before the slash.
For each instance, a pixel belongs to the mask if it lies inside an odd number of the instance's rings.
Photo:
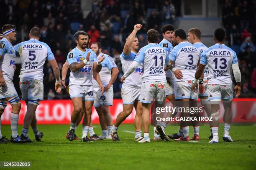
<path id="1" fill-rule="evenodd" d="M 256 93 L 256 0 L 226 0 L 220 1 L 222 6 L 222 21 L 226 28 L 229 42 L 238 54 L 242 74 L 242 97 L 255 97 Z M 28 40 L 29 30 L 37 26 L 41 29 L 42 42 L 50 47 L 61 69 L 67 54 L 75 47 L 74 32 L 84 30 L 91 36 L 91 43 L 102 43 L 103 53 L 113 57 L 120 71 L 114 83 L 114 97 L 120 98 L 123 75 L 120 54 L 127 35 L 133 25 L 139 23 L 143 28 L 138 34 L 139 48 L 145 46 L 146 30 L 160 28 L 166 23 L 174 23 L 180 15 L 180 2 L 172 0 L 93 0 L 92 12 L 83 18 L 80 0 L 0 0 L 3 7 L 0 13 L 0 25 L 14 23 L 17 25 L 17 40 L 14 45 Z M 19 10 L 17 10 L 19 9 Z M 232 33 L 232 40 L 231 35 Z M 159 37 L 159 42 L 161 40 Z M 238 47 L 239 46 L 239 47 Z M 240 47 L 241 46 L 241 47 Z M 17 65 L 14 83 L 18 85 L 20 65 Z M 60 94 L 54 92 L 54 75 L 49 63 L 44 66 L 44 98 L 69 99 L 65 88 Z M 68 73 L 69 74 L 69 73 Z M 67 75 L 67 83 L 69 75 Z M 17 86 L 17 89 L 18 86 Z M 18 90 L 20 95 L 20 91 Z"/>

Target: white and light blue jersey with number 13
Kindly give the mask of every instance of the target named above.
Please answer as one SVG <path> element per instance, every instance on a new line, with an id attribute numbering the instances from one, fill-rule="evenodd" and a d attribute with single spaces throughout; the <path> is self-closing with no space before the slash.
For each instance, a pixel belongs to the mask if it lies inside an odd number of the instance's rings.
<path id="1" fill-rule="evenodd" d="M 236 52 L 224 44 L 215 44 L 205 50 L 200 58 L 200 64 L 209 66 L 208 84 L 232 85 L 230 68 L 238 63 Z"/>

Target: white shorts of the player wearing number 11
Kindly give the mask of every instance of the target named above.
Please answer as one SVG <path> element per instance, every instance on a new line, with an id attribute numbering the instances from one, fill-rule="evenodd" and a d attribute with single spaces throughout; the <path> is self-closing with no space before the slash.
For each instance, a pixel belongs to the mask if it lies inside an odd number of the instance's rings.
<path id="1" fill-rule="evenodd" d="M 154 99 L 156 101 L 164 101 L 166 97 L 166 83 L 165 82 L 143 82 L 141 85 L 142 103 L 151 103 Z"/>

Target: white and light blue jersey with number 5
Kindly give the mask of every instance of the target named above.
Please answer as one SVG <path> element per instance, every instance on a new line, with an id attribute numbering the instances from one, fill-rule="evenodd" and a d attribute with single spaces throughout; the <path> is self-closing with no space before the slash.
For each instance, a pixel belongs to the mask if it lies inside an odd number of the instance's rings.
<path id="1" fill-rule="evenodd" d="M 33 78 L 43 81 L 46 58 L 47 60 L 54 60 L 50 47 L 44 42 L 31 38 L 15 45 L 14 50 L 20 54 L 20 79 Z"/>

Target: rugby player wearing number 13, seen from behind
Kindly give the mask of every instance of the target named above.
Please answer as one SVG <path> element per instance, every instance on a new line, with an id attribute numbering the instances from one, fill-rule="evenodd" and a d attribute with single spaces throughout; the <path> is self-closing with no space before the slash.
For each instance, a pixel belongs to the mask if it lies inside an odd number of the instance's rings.
<path id="1" fill-rule="evenodd" d="M 236 97 L 241 93 L 241 72 L 238 66 L 236 52 L 227 47 L 225 30 L 218 28 L 214 32 L 215 45 L 209 47 L 201 54 L 200 64 L 195 73 L 195 80 L 192 89 L 196 90 L 200 75 L 203 73 L 206 65 L 209 67 L 208 98 L 211 106 L 211 116 L 214 117 L 210 122 L 212 129 L 212 140 L 209 143 L 218 143 L 218 119 L 220 111 L 220 102 L 223 100 L 224 113 L 224 134 L 223 140 L 233 142 L 229 135 L 230 124 L 232 120 L 231 103 L 233 100 L 233 90 L 236 91 Z M 236 79 L 236 87 L 232 86 L 230 69 Z"/>

